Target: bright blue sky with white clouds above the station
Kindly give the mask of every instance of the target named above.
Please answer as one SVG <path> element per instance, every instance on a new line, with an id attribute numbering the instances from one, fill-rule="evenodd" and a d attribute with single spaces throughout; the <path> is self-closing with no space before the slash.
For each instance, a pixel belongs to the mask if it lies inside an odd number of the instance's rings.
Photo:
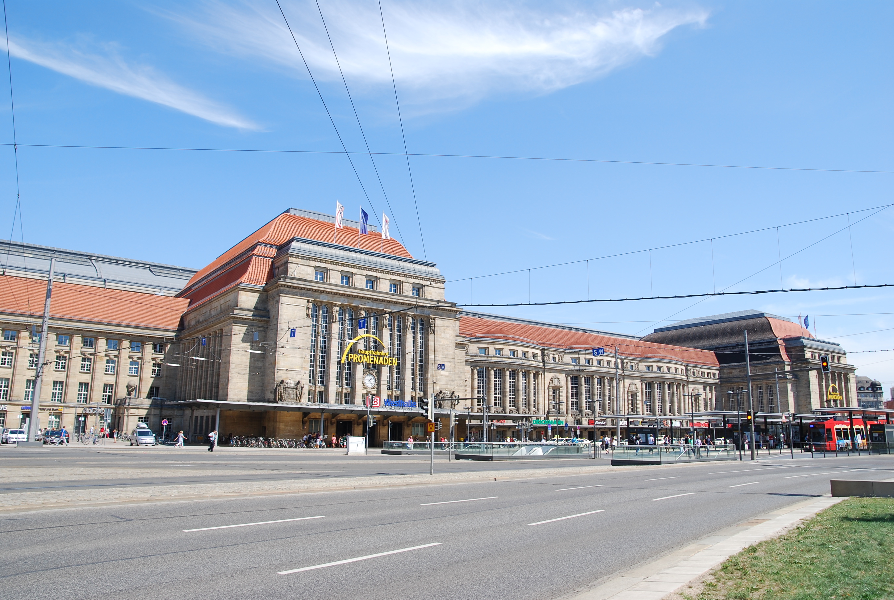
<path id="1" fill-rule="evenodd" d="M 342 139 L 364 151 L 316 4 L 281 3 Z M 411 153 L 894 171 L 890 3 L 382 5 Z M 200 267 L 285 208 L 339 200 L 392 215 L 459 303 L 894 283 L 894 207 L 865 210 L 892 202 L 894 173 L 411 156 L 417 222 L 378 5 L 319 7 L 370 148 L 394 153 L 375 158 L 381 187 L 353 156 L 368 202 L 274 0 L 8 0 L 22 227 L 4 146 L 0 236 Z M 874 351 L 894 348 L 879 331 L 892 293 L 481 309 L 645 334 L 758 308 Z M 850 358 L 894 385 L 894 352 Z"/>

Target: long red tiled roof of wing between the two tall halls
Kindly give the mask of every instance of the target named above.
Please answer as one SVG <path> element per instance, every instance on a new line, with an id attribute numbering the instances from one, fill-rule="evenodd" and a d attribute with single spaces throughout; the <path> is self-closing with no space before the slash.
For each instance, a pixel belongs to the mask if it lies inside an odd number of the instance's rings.
<path id="1" fill-rule="evenodd" d="M 460 334 L 467 338 L 496 338 L 515 340 L 518 342 L 534 342 L 548 348 L 565 350 L 588 350 L 605 348 L 606 352 L 618 346 L 621 356 L 640 359 L 674 359 L 682 362 L 718 367 L 717 357 L 712 351 L 682 348 L 663 343 L 640 342 L 611 335 L 590 334 L 581 331 L 569 331 L 545 325 L 528 325 L 512 323 L 497 319 L 460 317 Z"/>

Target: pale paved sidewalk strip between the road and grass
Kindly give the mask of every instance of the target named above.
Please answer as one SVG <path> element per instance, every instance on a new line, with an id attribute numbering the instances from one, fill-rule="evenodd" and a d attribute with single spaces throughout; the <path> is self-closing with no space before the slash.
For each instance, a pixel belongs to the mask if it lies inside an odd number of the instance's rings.
<path id="1" fill-rule="evenodd" d="M 844 499 L 824 496 L 769 512 L 735 528 L 721 531 L 718 535 L 699 540 L 655 562 L 623 573 L 579 596 L 571 596 L 571 599 L 661 600 L 749 545 L 778 537 L 799 521 L 809 519 Z M 743 527 L 743 530 L 734 531 Z"/>

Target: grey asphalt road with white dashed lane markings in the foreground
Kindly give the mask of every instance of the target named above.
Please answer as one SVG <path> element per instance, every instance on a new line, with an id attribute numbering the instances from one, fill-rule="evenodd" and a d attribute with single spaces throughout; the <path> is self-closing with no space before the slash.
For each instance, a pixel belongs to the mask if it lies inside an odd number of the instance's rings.
<path id="1" fill-rule="evenodd" d="M 894 477 L 894 460 L 713 462 L 5 514 L 0 589 L 11 600 L 543 600 L 827 494 L 841 477 Z"/>

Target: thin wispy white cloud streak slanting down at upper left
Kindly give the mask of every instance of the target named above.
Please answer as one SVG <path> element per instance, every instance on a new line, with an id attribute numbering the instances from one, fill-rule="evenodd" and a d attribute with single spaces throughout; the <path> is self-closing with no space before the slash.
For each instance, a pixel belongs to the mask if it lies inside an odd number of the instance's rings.
<path id="1" fill-rule="evenodd" d="M 89 52 L 85 46 L 45 43 L 19 38 L 10 41 L 10 55 L 39 64 L 55 72 L 126 96 L 169 106 L 224 127 L 257 130 L 258 126 L 231 109 L 186 89 L 145 64 L 128 63 L 114 44 L 101 47 L 102 53 Z"/>

